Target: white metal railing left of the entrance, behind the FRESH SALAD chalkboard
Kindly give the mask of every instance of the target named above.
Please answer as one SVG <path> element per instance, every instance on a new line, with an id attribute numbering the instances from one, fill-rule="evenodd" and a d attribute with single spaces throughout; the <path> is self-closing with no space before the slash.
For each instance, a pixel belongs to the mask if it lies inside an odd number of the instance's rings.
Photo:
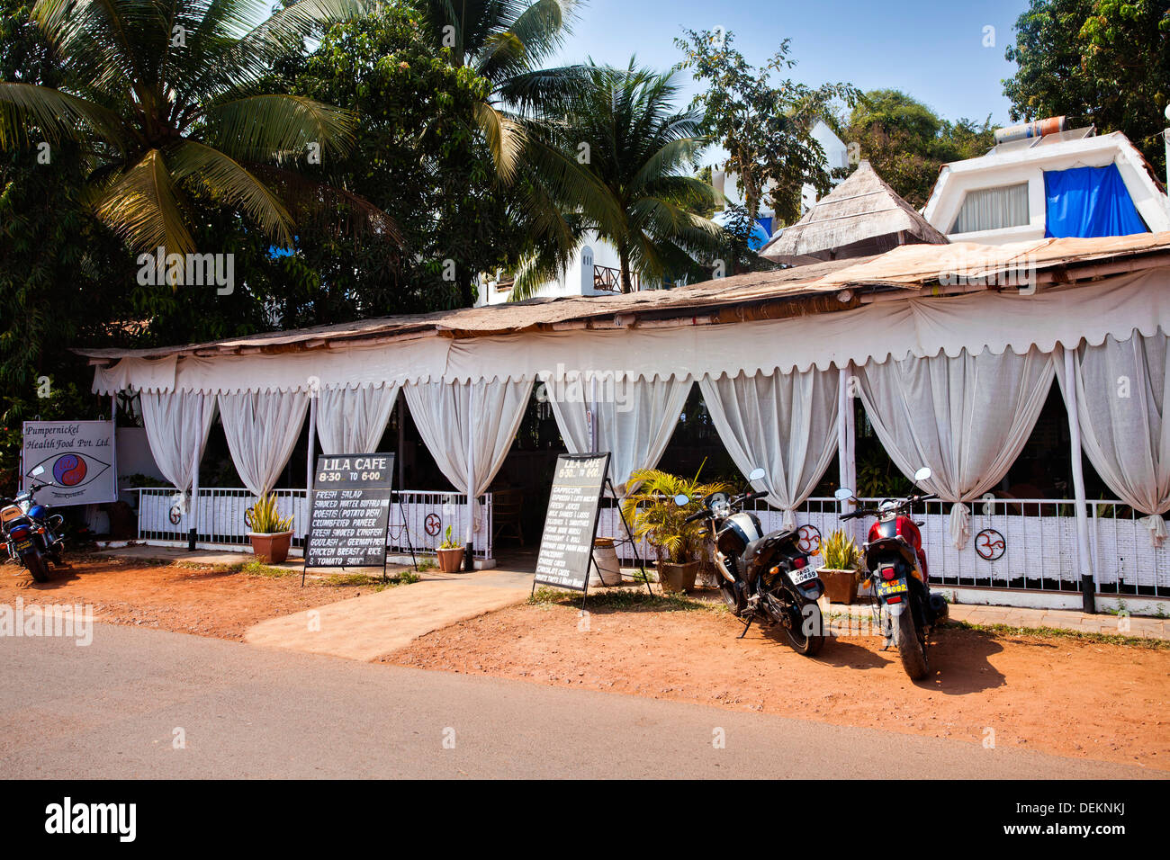
<path id="1" fill-rule="evenodd" d="M 309 525 L 309 498 L 303 489 L 278 489 L 276 505 L 283 516 L 292 516 L 292 545 L 304 546 Z M 200 488 L 197 535 L 199 543 L 223 546 L 248 545 L 245 512 L 256 497 L 243 488 Z M 491 494 L 480 496 L 475 511 L 474 553 L 491 558 Z M 138 488 L 138 539 L 185 542 L 191 528 L 184 498 L 165 487 Z M 393 501 L 386 527 L 386 546 L 394 552 L 414 551 L 433 553 L 446 536 L 463 541 L 467 527 L 467 494 L 425 490 L 402 490 Z"/>

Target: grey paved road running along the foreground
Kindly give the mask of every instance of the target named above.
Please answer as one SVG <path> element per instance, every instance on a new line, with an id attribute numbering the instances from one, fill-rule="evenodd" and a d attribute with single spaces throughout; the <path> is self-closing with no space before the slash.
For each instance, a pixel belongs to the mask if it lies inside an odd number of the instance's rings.
<path id="1" fill-rule="evenodd" d="M 110 625 L 0 638 L 0 778 L 1156 776 Z"/>

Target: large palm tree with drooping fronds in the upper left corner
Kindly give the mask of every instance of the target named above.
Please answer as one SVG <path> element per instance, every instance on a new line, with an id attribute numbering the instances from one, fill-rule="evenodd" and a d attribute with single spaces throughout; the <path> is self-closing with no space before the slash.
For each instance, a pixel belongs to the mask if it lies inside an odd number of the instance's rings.
<path id="1" fill-rule="evenodd" d="M 0 149 L 81 144 L 97 216 L 136 250 L 193 252 L 195 202 L 284 246 L 295 204 L 345 205 L 393 232 L 355 194 L 289 170 L 344 152 L 355 117 L 266 91 L 275 59 L 364 7 L 297 0 L 268 15 L 267 0 L 37 0 L 32 18 L 68 83 L 0 82 Z"/>

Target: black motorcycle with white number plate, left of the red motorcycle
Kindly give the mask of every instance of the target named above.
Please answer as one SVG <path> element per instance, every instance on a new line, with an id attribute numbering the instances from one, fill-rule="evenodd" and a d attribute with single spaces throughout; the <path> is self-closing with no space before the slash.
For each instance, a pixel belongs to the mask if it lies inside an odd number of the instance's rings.
<path id="1" fill-rule="evenodd" d="M 748 480 L 758 481 L 763 476 L 764 470 L 757 469 Z M 744 621 L 739 638 L 759 618 L 783 627 L 797 653 L 813 656 L 825 645 L 824 622 L 817 605 L 825 586 L 815 569 L 810 566 L 808 553 L 797 545 L 796 530 L 765 535 L 759 518 L 742 510 L 745 503 L 766 495 L 750 490 L 737 496 L 713 493 L 702 500 L 702 509 L 684 522 L 707 520 L 709 523 L 720 592 L 728 608 Z M 680 495 L 674 501 L 682 507 L 691 500 Z"/>

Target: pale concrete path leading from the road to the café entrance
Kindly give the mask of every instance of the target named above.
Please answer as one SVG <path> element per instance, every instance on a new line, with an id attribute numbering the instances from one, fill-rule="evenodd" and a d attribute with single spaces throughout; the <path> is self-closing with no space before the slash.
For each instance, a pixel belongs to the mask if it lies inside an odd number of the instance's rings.
<path id="1" fill-rule="evenodd" d="M 245 641 L 350 660 L 376 660 L 431 631 L 525 600 L 532 575 L 490 570 L 442 575 L 249 627 Z"/>

